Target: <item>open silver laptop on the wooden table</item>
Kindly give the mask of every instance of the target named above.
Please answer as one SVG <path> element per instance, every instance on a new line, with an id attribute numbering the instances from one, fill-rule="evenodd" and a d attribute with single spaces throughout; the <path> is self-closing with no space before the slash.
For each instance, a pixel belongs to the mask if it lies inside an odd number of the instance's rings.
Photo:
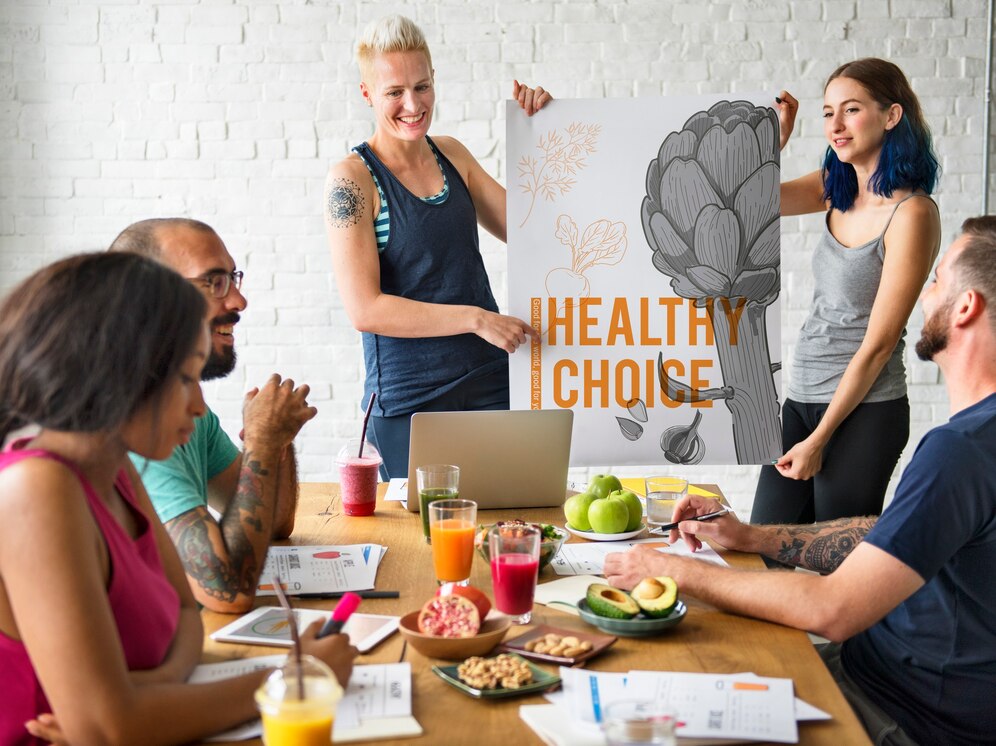
<path id="1" fill-rule="evenodd" d="M 562 505 L 574 413 L 569 409 L 418 412 L 408 451 L 408 510 L 419 510 L 415 469 L 460 467 L 460 497 L 481 510 Z"/>

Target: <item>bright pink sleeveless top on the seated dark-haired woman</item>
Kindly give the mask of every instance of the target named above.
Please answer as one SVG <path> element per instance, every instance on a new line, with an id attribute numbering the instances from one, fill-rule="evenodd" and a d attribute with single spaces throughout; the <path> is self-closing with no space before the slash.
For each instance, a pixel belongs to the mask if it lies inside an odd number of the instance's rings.
<path id="1" fill-rule="evenodd" d="M 128 475 L 124 470 L 118 472 L 114 485 L 135 514 L 136 539 L 121 528 L 80 470 L 61 456 L 39 449 L 8 450 L 0 453 L 0 470 L 26 458 L 58 461 L 79 478 L 90 512 L 107 544 L 110 558 L 107 599 L 117 623 L 128 669 L 136 671 L 160 665 L 176 634 L 180 598 L 163 571 L 155 534 L 135 503 Z M 66 665 L 71 665 L 71 661 L 66 661 Z M 24 723 L 36 715 L 51 712 L 51 708 L 24 644 L 2 632 L 0 671 L 3 672 L 0 675 L 0 702 L 3 703 L 0 707 L 0 744 L 42 743 L 24 730 Z M 80 692 L 80 696 L 84 697 L 86 693 Z"/>

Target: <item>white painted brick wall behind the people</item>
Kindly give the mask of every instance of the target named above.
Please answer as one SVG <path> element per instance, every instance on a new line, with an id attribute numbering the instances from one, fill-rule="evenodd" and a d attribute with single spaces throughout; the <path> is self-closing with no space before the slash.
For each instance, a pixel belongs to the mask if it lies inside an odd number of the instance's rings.
<path id="1" fill-rule="evenodd" d="M 783 154 L 794 176 L 824 147 L 826 75 L 875 55 L 907 71 L 930 118 L 945 242 L 979 209 L 982 0 L 13 0 L 0 6 L 0 291 L 106 247 L 133 220 L 207 221 L 246 269 L 249 297 L 241 364 L 208 398 L 237 433 L 245 389 L 273 370 L 309 382 L 319 415 L 299 438 L 301 476 L 333 479 L 333 454 L 359 427 L 363 364 L 331 278 L 322 185 L 371 132 L 352 44 L 392 11 L 422 24 L 433 47 L 434 132 L 462 138 L 499 179 L 512 78 L 563 97 L 786 87 L 802 102 Z M 820 219 L 783 222 L 786 362 Z M 482 246 L 503 299 L 504 248 L 486 235 Z M 917 312 L 912 339 L 919 325 Z M 947 417 L 936 369 L 912 356 L 910 369 L 906 458 Z M 684 472 L 749 511 L 755 468 Z"/>

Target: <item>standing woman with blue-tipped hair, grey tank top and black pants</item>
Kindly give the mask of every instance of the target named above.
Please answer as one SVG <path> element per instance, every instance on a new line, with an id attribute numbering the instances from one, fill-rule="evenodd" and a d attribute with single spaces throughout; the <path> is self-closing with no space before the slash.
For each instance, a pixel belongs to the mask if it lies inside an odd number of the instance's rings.
<path id="1" fill-rule="evenodd" d="M 784 147 L 798 102 L 783 91 L 778 106 Z M 753 523 L 878 515 L 909 438 L 903 338 L 940 245 L 930 130 L 902 70 L 875 58 L 833 72 L 823 122 L 823 168 L 782 185 L 783 216 L 826 217 L 784 453 L 762 469 Z"/>

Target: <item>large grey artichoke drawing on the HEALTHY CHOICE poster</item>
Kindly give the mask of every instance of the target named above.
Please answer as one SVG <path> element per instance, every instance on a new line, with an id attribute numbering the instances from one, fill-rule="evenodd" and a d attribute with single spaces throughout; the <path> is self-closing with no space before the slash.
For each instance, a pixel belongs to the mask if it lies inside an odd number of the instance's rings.
<path id="1" fill-rule="evenodd" d="M 641 210 L 654 267 L 707 309 L 724 383 L 695 391 L 659 365 L 661 388 L 675 401 L 724 400 L 741 464 L 781 452 L 773 377 L 781 365 L 771 362 L 765 321 L 780 284 L 778 150 L 772 109 L 720 101 L 661 144 Z"/>

